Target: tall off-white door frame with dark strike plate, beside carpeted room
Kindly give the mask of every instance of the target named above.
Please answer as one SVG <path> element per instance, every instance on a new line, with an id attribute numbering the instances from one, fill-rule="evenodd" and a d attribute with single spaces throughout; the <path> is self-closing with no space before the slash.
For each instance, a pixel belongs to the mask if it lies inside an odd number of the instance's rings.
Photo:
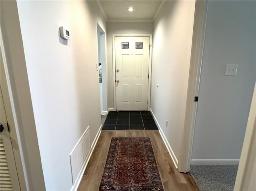
<path id="1" fill-rule="evenodd" d="M 197 110 L 197 102 L 194 102 L 194 97 L 198 96 L 199 91 L 207 6 L 208 1 L 196 1 L 184 131 L 177 168 L 180 172 L 190 170 Z"/>

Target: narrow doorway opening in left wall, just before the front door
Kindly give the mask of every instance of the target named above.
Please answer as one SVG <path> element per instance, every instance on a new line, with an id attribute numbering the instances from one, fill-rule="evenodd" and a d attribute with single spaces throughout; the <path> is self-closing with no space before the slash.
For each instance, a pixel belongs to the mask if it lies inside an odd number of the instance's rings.
<path id="1" fill-rule="evenodd" d="M 106 35 L 102 28 L 97 24 L 98 34 L 98 71 L 100 88 L 100 114 L 108 114 L 107 97 L 107 66 L 106 66 Z"/>

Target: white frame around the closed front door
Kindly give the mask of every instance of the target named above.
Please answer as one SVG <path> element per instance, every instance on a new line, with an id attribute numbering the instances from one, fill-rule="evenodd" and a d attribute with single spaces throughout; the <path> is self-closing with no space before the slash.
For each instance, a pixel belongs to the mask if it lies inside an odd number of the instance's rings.
<path id="1" fill-rule="evenodd" d="M 113 49 L 113 95 L 114 95 L 114 111 L 116 111 L 116 51 L 115 37 L 149 37 L 149 65 L 148 65 L 148 111 L 150 110 L 150 91 L 151 91 L 151 63 L 152 63 L 152 34 L 113 34 L 112 49 Z"/>

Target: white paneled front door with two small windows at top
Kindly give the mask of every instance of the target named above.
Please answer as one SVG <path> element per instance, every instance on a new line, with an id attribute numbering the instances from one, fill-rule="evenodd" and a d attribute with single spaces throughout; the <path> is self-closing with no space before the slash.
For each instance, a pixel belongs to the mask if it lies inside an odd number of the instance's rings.
<path id="1" fill-rule="evenodd" d="M 150 37 L 115 37 L 116 110 L 148 109 Z"/>

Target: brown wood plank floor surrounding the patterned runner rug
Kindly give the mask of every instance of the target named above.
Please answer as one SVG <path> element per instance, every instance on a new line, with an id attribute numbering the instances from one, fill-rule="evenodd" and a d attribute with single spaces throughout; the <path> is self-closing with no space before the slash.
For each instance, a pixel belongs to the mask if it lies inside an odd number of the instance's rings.
<path id="1" fill-rule="evenodd" d="M 102 131 L 78 191 L 98 191 L 112 137 L 150 137 L 165 191 L 198 191 L 188 173 L 180 173 L 158 131 Z"/>

